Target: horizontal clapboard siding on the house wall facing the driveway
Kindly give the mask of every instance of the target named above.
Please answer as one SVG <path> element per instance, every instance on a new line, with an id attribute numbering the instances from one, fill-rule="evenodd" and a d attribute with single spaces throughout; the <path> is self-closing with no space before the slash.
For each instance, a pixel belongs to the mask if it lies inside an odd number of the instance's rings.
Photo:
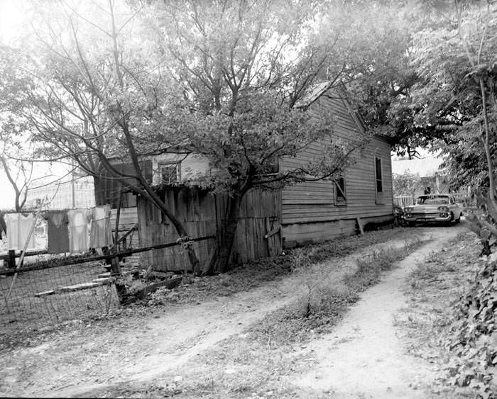
<path id="1" fill-rule="evenodd" d="M 361 125 L 349 112 L 347 104 L 338 96 L 322 94 L 312 103 L 314 118 L 330 118 L 334 140 L 360 142 Z M 298 157 L 282 159 L 280 167 L 292 169 L 322 156 L 327 145 L 319 140 L 300 152 Z M 382 159 L 383 201 L 376 198 L 375 156 Z M 332 181 L 307 181 L 282 191 L 282 225 L 285 246 L 329 240 L 353 234 L 356 218 L 383 222 L 392 218 L 393 193 L 391 146 L 382 137 L 371 137 L 367 144 L 352 155 L 353 163 L 344 172 L 346 206 L 335 205 Z M 366 223 L 365 222 L 365 223 Z"/>

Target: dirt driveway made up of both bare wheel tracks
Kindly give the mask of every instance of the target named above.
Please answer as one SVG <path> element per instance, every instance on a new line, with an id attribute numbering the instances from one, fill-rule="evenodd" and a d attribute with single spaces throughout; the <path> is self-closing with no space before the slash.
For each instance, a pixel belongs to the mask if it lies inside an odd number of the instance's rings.
<path id="1" fill-rule="evenodd" d="M 302 389 L 302 395 L 312 390 L 324 395 L 334 392 L 338 397 L 349 397 L 345 393 L 351 393 L 351 397 L 365 393 L 368 395 L 360 397 L 389 394 L 397 398 L 400 393 L 413 397 L 409 384 L 417 376 L 426 378 L 424 373 L 430 370 L 418 359 L 403 354 L 391 317 L 403 306 L 400 286 L 410 267 L 460 230 L 423 230 L 425 236 L 431 235 L 430 243 L 366 291 L 336 332 L 306 347 L 304 352 L 319 356 L 307 373 L 290 378 Z M 393 240 L 376 247 L 385 245 L 401 247 L 403 242 Z M 332 279 L 339 281 L 354 270 L 356 257 L 366 251 L 371 248 L 322 266 L 331 268 Z M 62 329 L 43 344 L 1 354 L 0 394 L 92 396 L 122 384 L 146 383 L 165 373 L 174 375 L 198 354 L 240 335 L 268 313 L 295 300 L 305 290 L 295 279 L 288 276 L 284 281 L 268 282 L 261 288 L 207 303 L 175 305 L 146 315 L 118 317 L 102 324 L 82 322 L 77 328 Z M 368 392 L 370 386 L 373 392 Z"/>

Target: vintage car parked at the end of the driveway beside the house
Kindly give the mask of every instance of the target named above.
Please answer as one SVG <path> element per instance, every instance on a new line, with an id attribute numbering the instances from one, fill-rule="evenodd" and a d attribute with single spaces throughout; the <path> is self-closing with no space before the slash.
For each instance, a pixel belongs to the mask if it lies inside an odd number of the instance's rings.
<path id="1" fill-rule="evenodd" d="M 413 206 L 404 208 L 406 225 L 415 223 L 459 223 L 462 210 L 450 194 L 428 194 L 417 197 Z"/>

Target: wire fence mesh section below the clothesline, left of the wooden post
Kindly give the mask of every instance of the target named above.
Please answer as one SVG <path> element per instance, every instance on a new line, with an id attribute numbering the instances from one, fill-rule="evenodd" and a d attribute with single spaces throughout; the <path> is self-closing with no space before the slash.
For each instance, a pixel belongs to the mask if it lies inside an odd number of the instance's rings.
<path id="1" fill-rule="evenodd" d="M 15 281 L 15 275 L 3 275 L 0 322 L 15 330 L 108 313 L 119 303 L 110 278 L 104 277 L 106 274 L 101 262 L 84 262 L 23 271 Z"/>

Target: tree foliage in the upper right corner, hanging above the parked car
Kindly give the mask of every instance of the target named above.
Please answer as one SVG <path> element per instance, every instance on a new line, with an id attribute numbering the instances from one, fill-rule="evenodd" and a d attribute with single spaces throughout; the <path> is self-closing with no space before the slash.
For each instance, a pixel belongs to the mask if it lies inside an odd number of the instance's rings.
<path id="1" fill-rule="evenodd" d="M 442 150 L 458 184 L 481 184 L 484 111 L 493 123 L 493 111 L 482 101 L 490 101 L 495 88 L 496 5 L 456 1 L 427 11 L 437 18 L 413 32 L 410 67 L 417 81 L 391 103 L 389 123 L 406 133 L 396 135 L 399 146 Z"/>

